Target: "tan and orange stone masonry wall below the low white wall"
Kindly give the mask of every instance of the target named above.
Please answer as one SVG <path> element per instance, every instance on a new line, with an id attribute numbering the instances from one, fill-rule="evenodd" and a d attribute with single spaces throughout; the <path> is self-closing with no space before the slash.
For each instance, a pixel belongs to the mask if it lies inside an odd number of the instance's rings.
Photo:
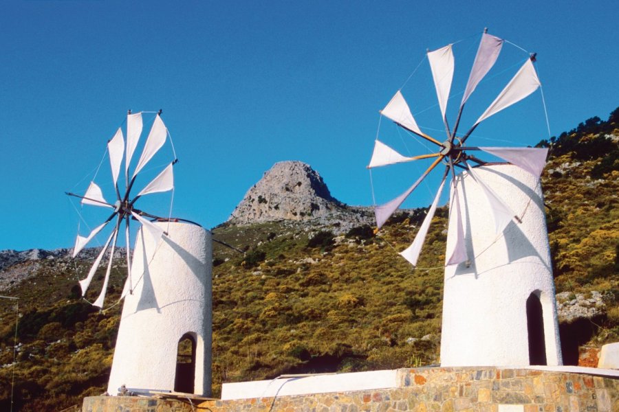
<path id="1" fill-rule="evenodd" d="M 594 370 L 594 369 L 593 369 Z M 536 369 L 419 368 L 398 370 L 398 387 L 246 400 L 85 398 L 83 412 L 613 412 L 619 379 Z"/>

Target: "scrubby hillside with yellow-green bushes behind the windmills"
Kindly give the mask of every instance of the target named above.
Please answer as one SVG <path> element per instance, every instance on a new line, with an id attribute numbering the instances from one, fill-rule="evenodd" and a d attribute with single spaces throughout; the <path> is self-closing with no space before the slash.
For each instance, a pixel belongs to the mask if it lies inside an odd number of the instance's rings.
<path id="1" fill-rule="evenodd" d="M 539 144 L 551 148 L 542 183 L 566 363 L 578 363 L 579 347 L 619 341 L 618 115 Z M 274 209 L 266 192 L 252 193 Z M 321 209 L 338 205 L 328 218 L 232 219 L 213 229 L 246 251 L 214 246 L 215 394 L 222 381 L 439 362 L 446 207 L 413 270 L 396 250 L 413 240 L 424 209 L 402 211 L 373 236 L 369 209 L 322 198 L 332 203 Z M 81 301 L 76 281 L 87 258 L 74 261 L 66 249 L 0 252 L 0 295 L 20 298 L 14 364 L 16 306 L 0 299 L 0 410 L 8 410 L 13 373 L 14 410 L 61 410 L 105 391 L 120 305 L 98 312 Z M 122 288 L 116 262 L 109 301 Z"/>

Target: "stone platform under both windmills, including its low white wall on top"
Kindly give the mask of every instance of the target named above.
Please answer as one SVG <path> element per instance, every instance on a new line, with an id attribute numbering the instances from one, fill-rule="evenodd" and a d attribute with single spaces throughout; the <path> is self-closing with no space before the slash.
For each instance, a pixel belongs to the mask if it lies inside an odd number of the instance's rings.
<path id="1" fill-rule="evenodd" d="M 619 371 L 613 369 L 427 367 L 278 381 L 226 384 L 232 386 L 224 396 L 250 396 L 227 400 L 183 398 L 180 394 L 177 399 L 96 396 L 85 398 L 82 411 L 619 411 Z M 301 385 L 301 382 L 305 383 Z M 307 385 L 309 382 L 313 384 Z M 347 390 L 348 382 L 367 386 Z M 341 390 L 337 389 L 338 385 Z M 229 389 L 235 389 L 236 393 Z M 293 390 L 312 393 L 283 394 Z"/>

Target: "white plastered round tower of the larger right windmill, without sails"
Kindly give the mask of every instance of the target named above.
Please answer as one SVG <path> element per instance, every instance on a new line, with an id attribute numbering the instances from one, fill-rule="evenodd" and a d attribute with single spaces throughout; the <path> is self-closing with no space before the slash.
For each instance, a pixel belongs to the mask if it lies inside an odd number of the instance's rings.
<path id="1" fill-rule="evenodd" d="M 522 223 L 512 220 L 497 235 L 479 185 L 466 172 L 457 176 L 471 264 L 445 269 L 441 365 L 528 365 L 526 301 L 531 293 L 540 297 L 543 308 L 547 364 L 561 365 L 541 186 L 534 176 L 513 165 L 475 170 Z M 455 214 L 451 214 L 447 250 L 456 233 Z"/>

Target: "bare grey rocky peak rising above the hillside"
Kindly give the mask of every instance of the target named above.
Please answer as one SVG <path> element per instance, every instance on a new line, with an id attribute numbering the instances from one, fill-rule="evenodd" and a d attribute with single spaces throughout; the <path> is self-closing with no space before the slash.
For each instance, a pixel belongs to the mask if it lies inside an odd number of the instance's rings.
<path id="1" fill-rule="evenodd" d="M 248 190 L 228 221 L 248 225 L 273 220 L 310 220 L 345 209 L 310 165 L 281 161 Z"/>

